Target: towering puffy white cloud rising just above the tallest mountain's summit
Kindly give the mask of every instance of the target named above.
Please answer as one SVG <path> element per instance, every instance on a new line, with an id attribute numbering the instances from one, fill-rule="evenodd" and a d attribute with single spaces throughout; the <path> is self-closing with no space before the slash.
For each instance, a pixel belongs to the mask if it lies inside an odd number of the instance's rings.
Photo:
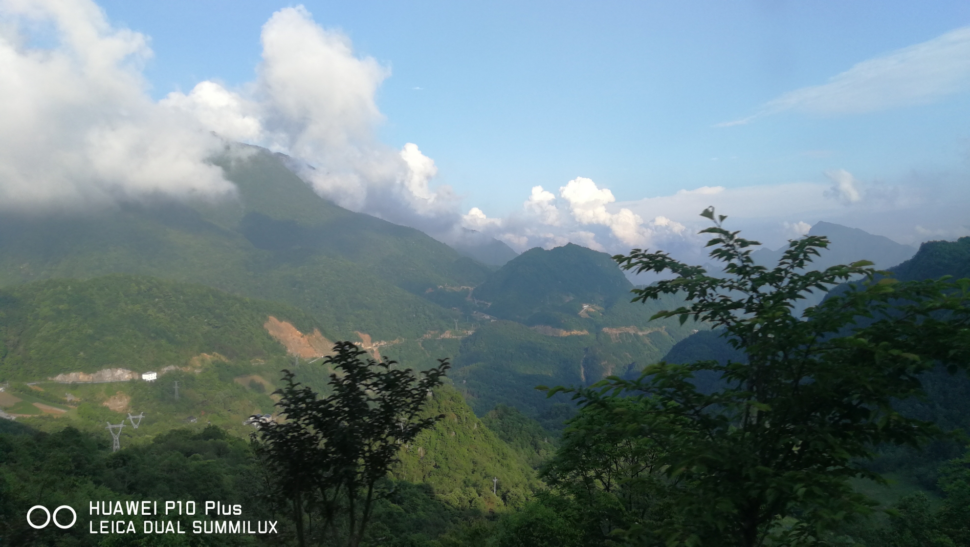
<path id="1" fill-rule="evenodd" d="M 163 103 L 221 136 L 299 159 L 299 174 L 339 205 L 444 240 L 461 235 L 458 198 L 431 184 L 434 160 L 414 143 L 395 150 L 376 138 L 384 117 L 375 95 L 387 67 L 355 54 L 346 36 L 302 6 L 276 12 L 261 40 L 257 78 L 242 91 L 204 81 Z"/>

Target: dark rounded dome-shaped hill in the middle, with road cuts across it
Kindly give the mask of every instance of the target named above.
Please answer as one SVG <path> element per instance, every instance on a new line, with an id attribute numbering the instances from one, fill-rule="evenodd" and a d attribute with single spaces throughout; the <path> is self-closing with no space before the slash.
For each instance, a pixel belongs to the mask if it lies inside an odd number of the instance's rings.
<path id="1" fill-rule="evenodd" d="M 703 326 L 650 318 L 671 297 L 630 303 L 630 281 L 609 255 L 578 245 L 531 249 L 469 291 L 481 323 L 461 340 L 452 378 L 482 414 L 505 404 L 532 418 L 557 411 L 536 385 L 592 384 L 635 375 Z"/>

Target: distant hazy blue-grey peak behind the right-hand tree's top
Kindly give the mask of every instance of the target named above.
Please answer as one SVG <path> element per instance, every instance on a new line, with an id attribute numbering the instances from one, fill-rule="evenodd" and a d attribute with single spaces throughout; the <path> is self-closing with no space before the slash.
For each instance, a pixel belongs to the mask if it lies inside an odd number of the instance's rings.
<path id="1" fill-rule="evenodd" d="M 910 245 L 896 243 L 883 235 L 874 235 L 859 228 L 819 222 L 808 230 L 809 235 L 824 235 L 829 240 L 827 250 L 812 262 L 812 268 L 824 269 L 835 264 L 848 264 L 857 260 L 870 260 L 877 269 L 886 269 L 912 258 L 917 249 Z M 774 266 L 787 247 L 772 251 L 759 249 L 751 254 L 755 262 L 763 266 Z"/>

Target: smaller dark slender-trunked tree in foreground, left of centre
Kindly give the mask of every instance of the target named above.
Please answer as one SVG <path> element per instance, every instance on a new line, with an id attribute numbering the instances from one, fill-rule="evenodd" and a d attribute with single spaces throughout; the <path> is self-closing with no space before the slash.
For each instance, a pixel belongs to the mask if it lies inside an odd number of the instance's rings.
<path id="1" fill-rule="evenodd" d="M 375 499 L 375 485 L 398 461 L 402 445 L 441 416 L 420 418 L 432 388 L 450 364 L 420 373 L 396 368 L 397 361 L 362 360 L 352 342 L 338 342 L 328 382 L 332 394 L 320 399 L 284 370 L 286 385 L 275 391 L 281 422 L 254 434 L 257 452 L 271 470 L 275 496 L 288 501 L 297 538 L 307 544 L 307 528 L 318 515 L 319 533 L 344 538 L 350 547 L 364 539 Z M 341 530 L 338 530 L 340 528 Z"/>

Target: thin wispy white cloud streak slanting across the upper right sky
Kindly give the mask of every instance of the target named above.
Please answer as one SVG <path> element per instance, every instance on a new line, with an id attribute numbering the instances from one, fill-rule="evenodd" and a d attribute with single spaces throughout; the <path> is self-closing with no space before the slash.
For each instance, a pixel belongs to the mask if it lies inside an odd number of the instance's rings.
<path id="1" fill-rule="evenodd" d="M 970 90 L 970 26 L 915 46 L 862 61 L 827 83 L 796 89 L 748 117 L 718 124 L 742 125 L 786 110 L 857 114 L 931 103 Z"/>

